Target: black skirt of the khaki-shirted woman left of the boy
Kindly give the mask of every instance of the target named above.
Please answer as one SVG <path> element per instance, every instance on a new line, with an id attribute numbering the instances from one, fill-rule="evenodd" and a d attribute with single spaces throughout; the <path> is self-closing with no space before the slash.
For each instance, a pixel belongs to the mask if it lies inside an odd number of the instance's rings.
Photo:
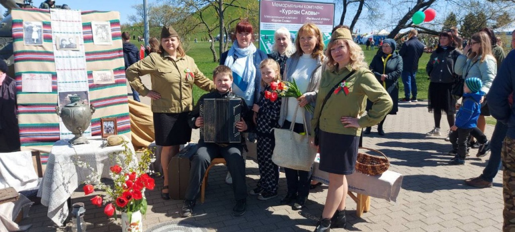
<path id="1" fill-rule="evenodd" d="M 153 113 L 156 145 L 174 146 L 190 142 L 192 128 L 187 122 L 188 113 Z"/>

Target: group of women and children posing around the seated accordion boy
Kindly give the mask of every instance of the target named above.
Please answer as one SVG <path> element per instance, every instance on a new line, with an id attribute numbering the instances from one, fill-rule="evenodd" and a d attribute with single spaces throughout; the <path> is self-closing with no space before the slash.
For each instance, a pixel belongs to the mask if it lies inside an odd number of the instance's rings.
<path id="1" fill-rule="evenodd" d="M 248 194 L 256 195 L 263 201 L 276 197 L 279 167 L 271 160 L 276 142 L 271 129 L 293 127 L 299 134 L 314 135 L 316 128 L 320 138 L 317 141 L 320 170 L 330 173 L 331 182 L 328 200 L 316 231 L 344 227 L 347 197 L 345 175 L 354 172 L 361 128 L 381 123 L 386 114 L 396 112 L 392 110 L 390 94 L 376 79 L 381 78 L 381 74 L 377 76 L 369 70 L 361 47 L 353 42 L 346 27 L 335 29 L 327 49 L 324 48 L 322 33 L 315 24 L 304 24 L 297 33 L 295 44 L 291 43 L 289 31 L 281 28 L 274 34 L 274 49 L 268 55 L 254 46 L 253 28 L 249 22 L 236 24 L 234 35 L 231 49 L 221 54 L 220 65 L 213 72 L 213 81 L 198 70 L 191 57 L 184 54 L 180 37 L 172 27 L 163 27 L 161 46 L 157 52 L 130 65 L 126 71 L 134 90 L 152 98 L 156 143 L 163 146 L 163 167 L 167 167 L 171 157 L 177 154 L 180 144 L 190 141 L 192 128 L 204 126 L 199 114 L 199 105 L 204 98 L 239 99 L 244 110 L 242 121 L 236 124 L 236 128 L 241 132 L 257 134 L 260 180 L 249 192 L 245 184 L 242 156 L 245 146 L 243 133 L 242 143 L 207 143 L 202 138 L 198 141 L 181 216 L 193 214 L 202 177 L 210 162 L 217 157 L 226 159 L 232 176 L 236 201 L 234 216 L 245 213 Z M 394 46 L 391 41 L 388 44 Z M 386 46 L 384 49 L 386 52 Z M 389 53 L 392 53 L 394 47 L 390 50 Z M 391 60 L 399 62 L 397 56 Z M 385 74 L 383 70 L 375 72 Z M 400 76 L 400 72 L 397 70 L 397 76 L 388 72 L 389 86 Z M 142 84 L 140 76 L 145 74 L 150 74 L 152 90 Z M 346 78 L 340 80 L 342 76 Z M 277 101 L 264 97 L 264 91 L 270 90 L 272 82 L 277 83 L 278 80 L 295 81 L 302 95 Z M 342 83 L 346 83 L 349 90 L 336 93 L 334 89 Z M 191 98 L 193 85 L 210 91 L 201 96 L 195 105 Z M 325 100 L 318 97 L 319 93 Z M 347 106 L 341 107 L 341 103 Z M 314 112 L 305 110 L 307 105 L 313 107 Z M 365 114 L 365 110 L 368 113 Z M 311 146 L 315 146 L 314 141 Z M 308 198 L 312 170 L 284 169 L 287 194 L 280 203 L 300 210 Z M 163 172 L 162 197 L 168 200 L 168 170 Z"/>

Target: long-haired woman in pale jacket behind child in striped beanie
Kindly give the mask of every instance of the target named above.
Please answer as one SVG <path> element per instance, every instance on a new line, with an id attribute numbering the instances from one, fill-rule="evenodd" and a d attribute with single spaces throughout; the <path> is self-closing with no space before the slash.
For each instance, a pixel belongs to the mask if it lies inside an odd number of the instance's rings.
<path id="1" fill-rule="evenodd" d="M 463 54 L 456 59 L 454 64 L 454 72 L 457 75 L 463 76 L 463 78 L 478 77 L 483 82 L 481 91 L 485 92 L 485 95 L 490 90 L 493 78 L 497 74 L 497 61 L 492 53 L 491 38 L 484 31 L 480 31 L 472 35 L 469 40 L 469 44 L 463 49 Z M 488 103 L 482 98 L 481 113 L 477 119 L 477 124 L 482 125 L 485 122 L 485 115 L 490 115 L 488 110 Z M 480 128 L 476 128 L 480 129 Z M 475 130 L 475 129 L 474 129 Z M 472 130 L 471 135 L 476 138 L 479 133 Z M 482 131 L 484 128 L 482 129 Z M 479 152 L 477 157 L 483 157 L 486 152 L 490 149 L 490 142 L 486 144 L 479 144 Z M 486 151 L 484 151 L 486 150 Z"/>

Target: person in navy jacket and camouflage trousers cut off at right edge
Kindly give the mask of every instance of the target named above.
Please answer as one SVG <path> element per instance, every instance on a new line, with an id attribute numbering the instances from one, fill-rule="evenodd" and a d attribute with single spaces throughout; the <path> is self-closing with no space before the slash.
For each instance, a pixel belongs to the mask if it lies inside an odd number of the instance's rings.
<path id="1" fill-rule="evenodd" d="M 488 108 L 497 122 L 508 126 L 501 157 L 503 161 L 503 231 L 515 229 L 515 108 L 513 104 L 515 90 L 515 51 L 504 59 L 499 72 L 493 79 L 487 94 Z"/>

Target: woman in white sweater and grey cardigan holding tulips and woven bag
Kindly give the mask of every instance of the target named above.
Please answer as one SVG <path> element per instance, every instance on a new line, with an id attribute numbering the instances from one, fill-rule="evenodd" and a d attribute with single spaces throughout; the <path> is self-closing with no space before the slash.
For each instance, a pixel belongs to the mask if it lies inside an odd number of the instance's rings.
<path id="1" fill-rule="evenodd" d="M 302 96 L 298 98 L 288 97 L 282 100 L 279 125 L 281 128 L 290 128 L 294 123 L 294 131 L 297 133 L 308 133 L 310 125 L 305 125 L 304 117 L 307 120 L 313 118 L 313 114 L 304 110 L 304 106 L 314 106 L 317 97 L 318 86 L 322 74 L 323 38 L 320 29 L 313 23 L 305 23 L 297 32 L 295 40 L 296 52 L 286 60 L 283 80 L 297 83 Z M 298 112 L 298 113 L 296 113 Z M 296 117 L 294 118 L 294 115 Z M 288 192 L 281 199 L 282 205 L 290 204 L 293 210 L 300 210 L 307 201 L 310 193 L 311 171 L 294 170 L 284 168 Z"/>

